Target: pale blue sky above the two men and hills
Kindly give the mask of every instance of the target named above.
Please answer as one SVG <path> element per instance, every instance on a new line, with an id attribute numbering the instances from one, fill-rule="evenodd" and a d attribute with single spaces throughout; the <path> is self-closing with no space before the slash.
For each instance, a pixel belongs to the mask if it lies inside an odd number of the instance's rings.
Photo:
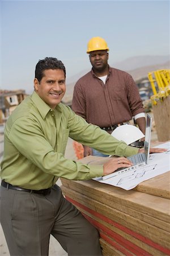
<path id="1" fill-rule="evenodd" d="M 100 36 L 111 63 L 169 54 L 169 1 L 0 0 L 0 89 L 33 89 L 37 62 L 57 57 L 69 77 L 91 69 L 88 41 Z"/>

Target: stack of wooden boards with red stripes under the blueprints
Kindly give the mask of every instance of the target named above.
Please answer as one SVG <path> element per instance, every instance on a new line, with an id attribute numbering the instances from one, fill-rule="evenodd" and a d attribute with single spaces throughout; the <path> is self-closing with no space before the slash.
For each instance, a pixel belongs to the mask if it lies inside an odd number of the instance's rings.
<path id="1" fill-rule="evenodd" d="M 169 178 L 167 172 L 130 191 L 95 180 L 61 179 L 61 188 L 99 230 L 104 256 L 170 255 Z"/>

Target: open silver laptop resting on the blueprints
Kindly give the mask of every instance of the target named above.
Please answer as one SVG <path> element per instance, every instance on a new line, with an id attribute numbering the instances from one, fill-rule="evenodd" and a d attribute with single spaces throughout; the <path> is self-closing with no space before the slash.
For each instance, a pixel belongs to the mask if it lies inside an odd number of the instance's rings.
<path id="1" fill-rule="evenodd" d="M 150 155 L 151 128 L 152 128 L 152 118 L 150 117 L 149 114 L 147 114 L 146 130 L 145 130 L 145 143 L 144 143 L 145 152 L 129 156 L 128 159 L 134 164 L 133 166 L 128 167 L 128 168 L 118 168 L 112 174 L 103 176 L 102 177 L 103 180 L 107 180 L 111 177 L 117 176 L 124 172 L 136 170 L 137 168 L 141 168 L 142 166 L 145 166 L 148 163 L 148 158 Z"/>

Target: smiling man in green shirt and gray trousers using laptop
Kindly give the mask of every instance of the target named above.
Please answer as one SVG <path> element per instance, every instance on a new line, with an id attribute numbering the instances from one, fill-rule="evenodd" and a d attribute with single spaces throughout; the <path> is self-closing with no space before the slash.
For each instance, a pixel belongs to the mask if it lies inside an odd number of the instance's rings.
<path id="1" fill-rule="evenodd" d="M 35 91 L 6 123 L 1 224 L 11 255 L 48 255 L 50 234 L 69 255 L 102 255 L 97 230 L 62 196 L 56 181 L 58 177 L 88 180 L 110 174 L 131 166 L 124 156 L 139 151 L 61 104 L 65 79 L 61 61 L 53 57 L 40 60 L 35 70 Z M 104 166 L 68 160 L 64 156 L 68 137 L 120 157 Z"/>

